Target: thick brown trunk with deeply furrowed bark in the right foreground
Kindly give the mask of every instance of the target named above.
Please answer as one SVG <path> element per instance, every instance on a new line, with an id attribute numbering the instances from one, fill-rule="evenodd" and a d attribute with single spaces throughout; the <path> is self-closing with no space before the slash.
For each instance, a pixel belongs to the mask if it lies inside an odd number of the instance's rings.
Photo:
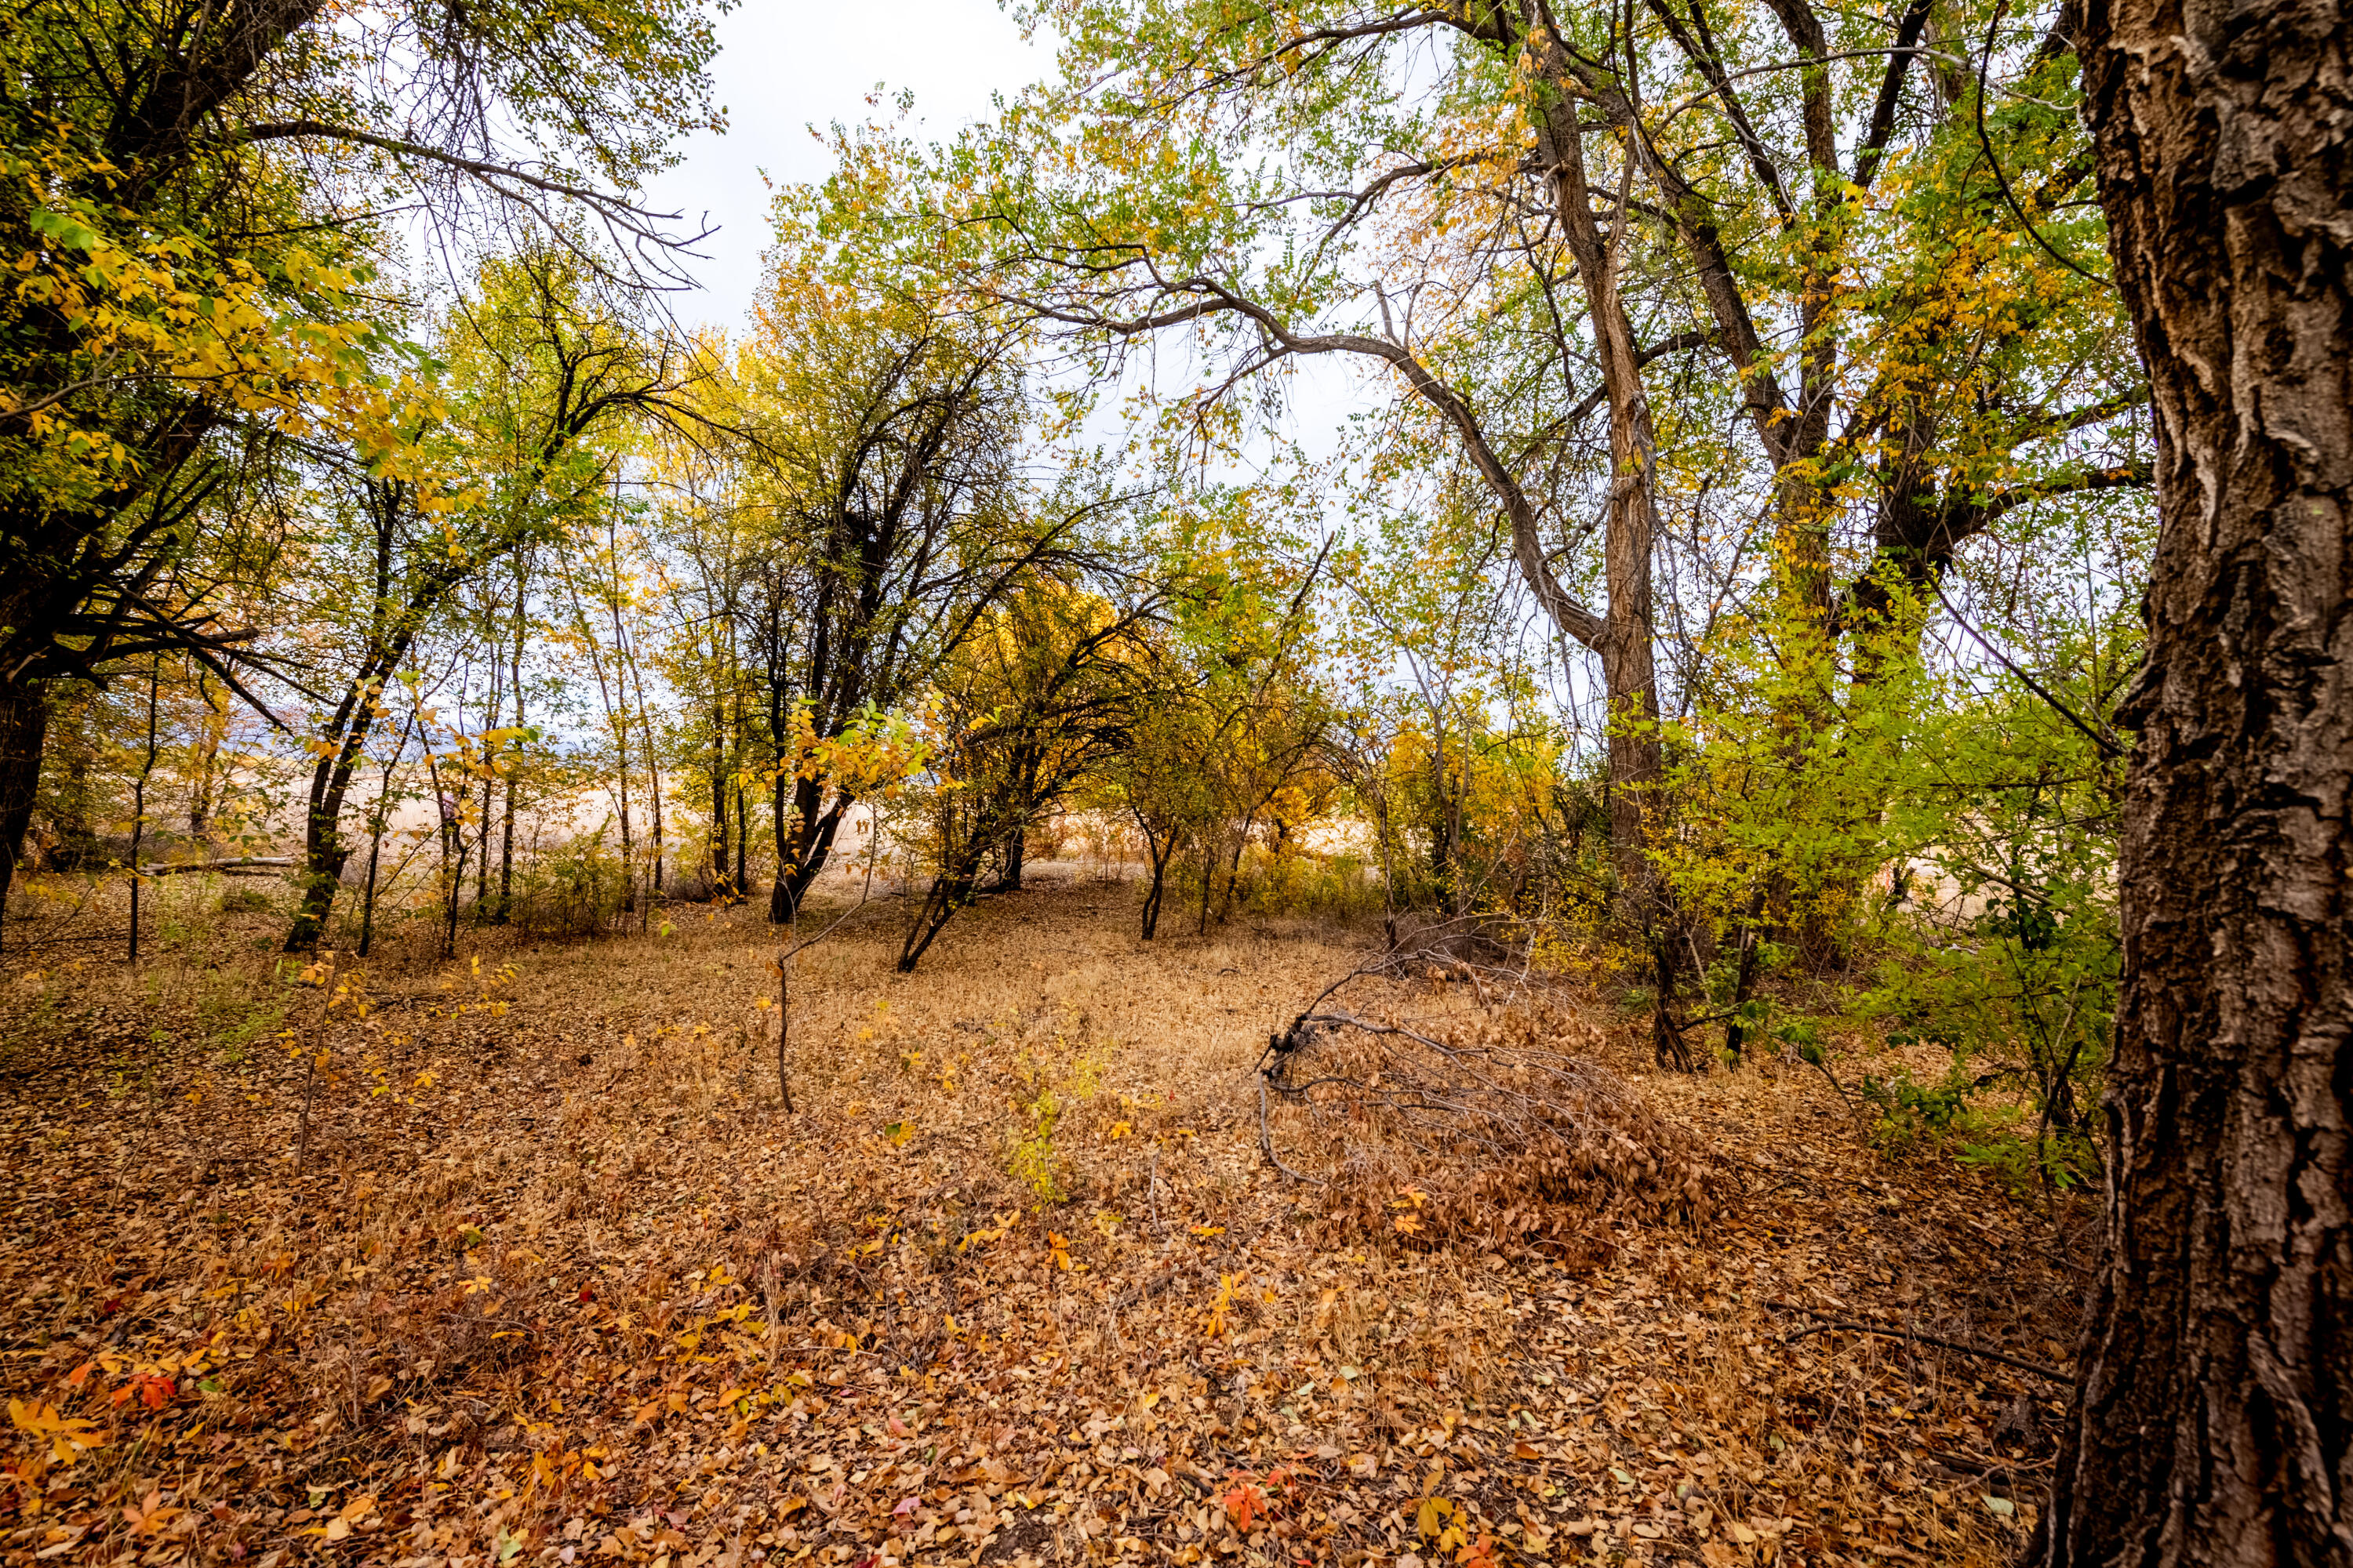
<path id="1" fill-rule="evenodd" d="M 2106 1255 L 2045 1552 L 2353 1563 L 2353 75 L 2337 0 L 2078 0 L 2162 527 Z"/>

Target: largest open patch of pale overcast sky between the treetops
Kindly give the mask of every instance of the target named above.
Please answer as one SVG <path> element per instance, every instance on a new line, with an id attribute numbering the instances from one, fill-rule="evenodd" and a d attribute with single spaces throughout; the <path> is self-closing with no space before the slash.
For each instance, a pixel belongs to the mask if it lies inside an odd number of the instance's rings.
<path id="1" fill-rule="evenodd" d="M 831 169 L 812 125 L 873 115 L 866 96 L 880 85 L 915 94 L 915 136 L 946 139 L 988 115 L 993 92 L 1012 94 L 1054 68 L 1049 40 L 1024 45 L 995 0 L 744 0 L 718 28 L 713 78 L 727 134 L 692 136 L 647 205 L 720 226 L 701 247 L 708 259 L 694 263 L 701 296 L 678 301 L 678 315 L 729 329 L 760 282 L 767 181 L 814 181 Z"/>

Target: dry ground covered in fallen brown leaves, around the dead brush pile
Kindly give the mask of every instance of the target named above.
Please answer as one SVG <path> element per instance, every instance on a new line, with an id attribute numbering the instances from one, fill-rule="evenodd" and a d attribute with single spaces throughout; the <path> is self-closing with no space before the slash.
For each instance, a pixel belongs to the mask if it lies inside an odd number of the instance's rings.
<path id="1" fill-rule="evenodd" d="M 1268 1161 L 1332 1175 L 1346 1126 L 1278 1100 L 1261 1147 L 1268 1032 L 1379 933 L 1139 943 L 1134 889 L 1068 882 L 894 976 L 901 922 L 868 905 L 795 961 L 791 1114 L 755 910 L 461 933 L 459 961 L 379 959 L 358 990 L 351 964 L 301 985 L 261 914 L 136 973 L 12 957 L 0 1556 L 1725 1568 L 2024 1542 L 2064 1387 L 1826 1324 L 2064 1368 L 2066 1215 L 1875 1150 L 1828 1074 L 1661 1074 L 1638 1020 L 1555 997 L 1527 1027 L 1657 1114 L 1642 1171 L 1699 1159 L 1706 1192 L 1506 1194 L 1537 1218 L 1449 1239 L 1414 1150 L 1367 1208 Z M 1428 1030 L 1506 1006 L 1353 994 Z"/>

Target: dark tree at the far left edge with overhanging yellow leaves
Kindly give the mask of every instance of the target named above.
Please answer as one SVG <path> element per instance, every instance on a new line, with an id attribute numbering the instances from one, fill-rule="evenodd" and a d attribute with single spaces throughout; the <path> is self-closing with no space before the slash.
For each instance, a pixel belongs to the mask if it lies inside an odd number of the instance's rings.
<path id="1" fill-rule="evenodd" d="M 711 49 L 699 0 L 96 0 L 9 16 L 0 896 L 49 682 L 179 651 L 245 691 L 264 628 L 169 590 L 207 578 L 188 557 L 231 454 L 256 433 L 400 447 L 416 388 L 376 324 L 381 214 L 586 209 L 609 256 L 661 268 L 661 226 L 616 193 L 671 132 L 715 120 Z"/>

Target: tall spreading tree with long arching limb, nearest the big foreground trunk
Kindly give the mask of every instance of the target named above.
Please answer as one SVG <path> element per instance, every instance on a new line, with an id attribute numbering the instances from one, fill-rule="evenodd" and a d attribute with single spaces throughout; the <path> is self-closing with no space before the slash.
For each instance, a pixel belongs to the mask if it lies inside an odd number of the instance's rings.
<path id="1" fill-rule="evenodd" d="M 1598 656 L 1628 889 L 1657 837 L 1661 550 L 1713 599 L 1762 564 L 1793 656 L 1828 665 L 1894 611 L 1887 581 L 2146 484 L 2122 322 L 2071 270 L 2097 223 L 2066 66 L 1993 7 L 1045 12 L 1066 87 L 944 162 L 948 214 L 998 237 L 988 287 L 1113 362 L 1186 343 L 1200 402 L 1306 355 L 1388 374 Z M 1988 16 L 1991 108 L 1960 54 Z M 1675 531 L 1671 491 L 1725 501 Z"/>

